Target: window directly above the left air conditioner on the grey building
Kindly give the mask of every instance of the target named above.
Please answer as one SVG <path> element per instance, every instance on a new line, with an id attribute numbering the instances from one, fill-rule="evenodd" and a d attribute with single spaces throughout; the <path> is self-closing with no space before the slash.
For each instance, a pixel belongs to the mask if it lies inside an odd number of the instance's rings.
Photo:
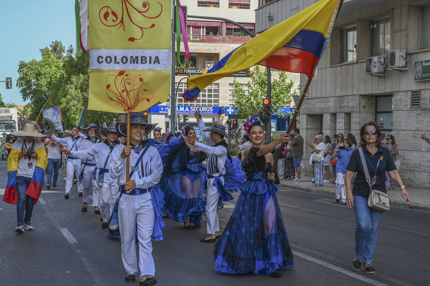
<path id="1" fill-rule="evenodd" d="M 382 56 L 390 51 L 391 17 L 370 22 L 370 56 Z"/>

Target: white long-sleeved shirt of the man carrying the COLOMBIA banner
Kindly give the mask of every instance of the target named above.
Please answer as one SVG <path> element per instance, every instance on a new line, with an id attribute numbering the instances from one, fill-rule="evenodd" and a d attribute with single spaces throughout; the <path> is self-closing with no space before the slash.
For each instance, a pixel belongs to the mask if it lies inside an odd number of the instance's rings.
<path id="1" fill-rule="evenodd" d="M 161 162 L 160 154 L 157 149 L 153 146 L 148 146 L 148 150 L 142 157 L 138 164 L 138 171 L 133 172 L 130 180 L 136 182 L 136 188 L 148 189 L 160 182 L 161 175 L 163 173 L 163 163 Z M 124 185 L 126 183 L 126 159 L 121 158 L 124 145 L 117 145 L 112 151 L 111 166 L 109 166 L 109 174 L 111 178 L 117 178 L 118 185 Z M 144 146 L 146 148 L 146 145 Z M 143 152 L 143 149 L 140 152 Z M 130 174 L 132 167 L 136 165 L 140 153 L 137 154 L 134 150 L 130 154 Z M 143 167 L 143 168 L 142 168 Z"/>

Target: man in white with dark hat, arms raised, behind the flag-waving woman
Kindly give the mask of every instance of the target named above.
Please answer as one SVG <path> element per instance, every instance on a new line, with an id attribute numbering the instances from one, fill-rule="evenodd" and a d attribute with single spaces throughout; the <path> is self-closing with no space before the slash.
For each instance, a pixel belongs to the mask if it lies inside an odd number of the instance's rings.
<path id="1" fill-rule="evenodd" d="M 206 163 L 206 173 L 208 175 L 208 190 L 206 197 L 206 218 L 207 233 L 206 238 L 201 239 L 201 242 L 215 242 L 216 238 L 219 238 L 219 221 L 217 214 L 217 205 L 220 193 L 218 187 L 214 185 L 214 181 L 217 177 L 221 178 L 224 184 L 225 160 L 229 155 L 228 145 L 224 141 L 224 137 L 230 140 L 228 135 L 225 133 L 225 127 L 220 124 L 214 124 L 213 127 L 206 129 L 205 123 L 203 122 L 200 111 L 197 110 L 194 113 L 199 123 L 199 128 L 202 130 L 203 139 L 207 145 L 196 142 L 193 138 L 186 136 L 185 142 L 193 145 L 195 148 L 208 154 L 208 160 Z M 208 134 L 210 131 L 210 135 Z"/>

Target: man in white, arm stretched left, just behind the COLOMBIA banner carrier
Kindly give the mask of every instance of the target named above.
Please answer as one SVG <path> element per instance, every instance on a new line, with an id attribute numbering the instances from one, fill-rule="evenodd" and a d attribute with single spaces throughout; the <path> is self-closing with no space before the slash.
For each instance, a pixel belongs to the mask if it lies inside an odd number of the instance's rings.
<path id="1" fill-rule="evenodd" d="M 109 166 L 111 163 L 112 151 L 114 147 L 118 145 L 119 142 L 117 141 L 118 133 L 114 124 L 109 125 L 107 129 L 101 127 L 98 128 L 104 130 L 102 132 L 107 135 L 106 141 L 93 144 L 91 148 L 86 149 L 84 151 L 69 151 L 66 149 L 61 149 L 61 152 L 80 159 L 95 157 L 96 180 L 92 181 L 98 184 L 98 187 L 100 189 L 100 209 L 103 219 L 103 222 L 101 223 L 101 228 L 107 229 L 107 221 L 112 214 L 111 211 L 115 204 L 115 200 L 117 198 L 118 193 L 117 180 L 114 180 L 111 178 L 111 176 L 109 176 Z"/>

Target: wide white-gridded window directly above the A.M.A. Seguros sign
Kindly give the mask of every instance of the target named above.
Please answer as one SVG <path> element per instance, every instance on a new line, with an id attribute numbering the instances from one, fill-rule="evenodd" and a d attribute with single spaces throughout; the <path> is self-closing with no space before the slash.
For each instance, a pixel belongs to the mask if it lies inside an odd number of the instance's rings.
<path id="1" fill-rule="evenodd" d="M 178 83 L 175 85 L 178 86 Z M 219 106 L 219 84 L 210 84 L 200 92 L 199 97 L 194 101 L 187 101 L 181 96 L 185 90 L 187 90 L 187 83 L 181 82 L 178 87 L 177 105 Z"/>

